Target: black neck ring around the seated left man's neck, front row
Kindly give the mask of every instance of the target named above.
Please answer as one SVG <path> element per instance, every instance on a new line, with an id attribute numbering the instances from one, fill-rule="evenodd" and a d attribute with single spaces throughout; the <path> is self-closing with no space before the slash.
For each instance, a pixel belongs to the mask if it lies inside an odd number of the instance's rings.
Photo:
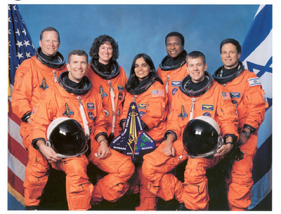
<path id="1" fill-rule="evenodd" d="M 58 77 L 58 83 L 60 83 L 60 86 L 62 86 L 68 93 L 74 93 L 74 95 L 84 95 L 91 89 L 92 83 L 87 76 L 83 77 L 84 88 L 72 88 L 67 86 L 67 84 L 64 82 L 65 76 L 67 75 L 68 71 L 61 73 Z"/>

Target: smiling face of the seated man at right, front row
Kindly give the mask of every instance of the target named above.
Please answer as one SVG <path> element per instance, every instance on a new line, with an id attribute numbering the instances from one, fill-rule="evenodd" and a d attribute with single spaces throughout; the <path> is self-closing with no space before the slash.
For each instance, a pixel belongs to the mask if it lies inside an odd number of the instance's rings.
<path id="1" fill-rule="evenodd" d="M 204 64 L 202 57 L 187 58 L 188 73 L 194 83 L 200 83 L 204 80 L 204 72 L 207 70 L 207 64 Z"/>

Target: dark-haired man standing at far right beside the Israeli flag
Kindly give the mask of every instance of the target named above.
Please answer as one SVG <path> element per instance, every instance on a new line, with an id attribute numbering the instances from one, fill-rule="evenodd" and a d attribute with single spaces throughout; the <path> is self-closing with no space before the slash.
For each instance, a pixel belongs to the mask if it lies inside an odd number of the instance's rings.
<path id="1" fill-rule="evenodd" d="M 259 77 L 244 69 L 239 61 L 241 46 L 235 39 L 225 39 L 220 45 L 223 66 L 218 68 L 214 79 L 230 91 L 232 102 L 239 116 L 238 145 L 244 158 L 235 160 L 226 180 L 228 205 L 230 210 L 247 210 L 251 203 L 251 188 L 254 181 L 251 175 L 253 160 L 257 150 L 259 126 L 264 119 L 268 103 Z"/>

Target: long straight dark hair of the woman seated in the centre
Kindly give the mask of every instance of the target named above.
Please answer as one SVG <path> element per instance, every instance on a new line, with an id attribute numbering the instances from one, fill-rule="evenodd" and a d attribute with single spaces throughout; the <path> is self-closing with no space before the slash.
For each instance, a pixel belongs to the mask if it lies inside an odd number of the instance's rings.
<path id="1" fill-rule="evenodd" d="M 133 58 L 133 62 L 131 65 L 131 70 L 130 70 L 130 76 L 125 85 L 126 91 L 131 91 L 131 89 L 136 88 L 136 86 L 138 86 L 139 80 L 135 74 L 135 65 L 136 65 L 136 60 L 138 60 L 138 58 L 143 58 L 145 60 L 145 62 L 148 63 L 148 65 L 151 69 L 151 72 L 149 73 L 148 78 L 152 79 L 152 76 L 155 76 L 155 80 L 157 80 L 163 84 L 162 80 L 156 74 L 155 66 L 154 66 L 150 56 L 145 53 L 139 53 L 138 55 L 135 56 L 135 58 Z"/>

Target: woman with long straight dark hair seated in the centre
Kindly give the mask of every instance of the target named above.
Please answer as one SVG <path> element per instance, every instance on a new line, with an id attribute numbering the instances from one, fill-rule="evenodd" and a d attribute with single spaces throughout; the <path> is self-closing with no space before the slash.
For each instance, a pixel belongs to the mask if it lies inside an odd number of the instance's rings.
<path id="1" fill-rule="evenodd" d="M 129 80 L 126 83 L 126 98 L 121 116 L 122 127 L 131 102 L 136 102 L 143 129 L 155 140 L 156 146 L 163 140 L 166 131 L 166 93 L 161 79 L 155 72 L 151 58 L 145 53 L 133 59 Z M 157 196 L 148 190 L 148 180 L 143 177 L 142 160 L 136 163 L 136 173 L 131 179 L 131 192 L 140 192 L 140 204 L 136 210 L 156 210 Z"/>

